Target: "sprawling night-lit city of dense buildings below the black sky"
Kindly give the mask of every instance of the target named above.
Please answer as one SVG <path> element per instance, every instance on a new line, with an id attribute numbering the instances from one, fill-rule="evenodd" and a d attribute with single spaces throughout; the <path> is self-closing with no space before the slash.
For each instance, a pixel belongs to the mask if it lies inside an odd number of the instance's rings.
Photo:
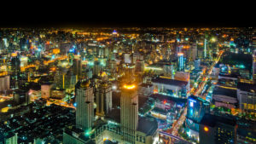
<path id="1" fill-rule="evenodd" d="M 255 90 L 252 27 L 0 29 L 0 144 L 253 144 Z"/>

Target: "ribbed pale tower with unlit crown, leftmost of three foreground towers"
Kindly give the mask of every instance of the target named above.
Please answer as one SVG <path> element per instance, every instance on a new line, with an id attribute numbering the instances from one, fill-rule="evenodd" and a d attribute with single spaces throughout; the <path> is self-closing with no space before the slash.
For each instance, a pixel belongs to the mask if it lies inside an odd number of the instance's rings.
<path id="1" fill-rule="evenodd" d="M 90 130 L 94 120 L 94 95 L 90 80 L 83 80 L 76 85 L 76 125 L 83 130 Z"/>

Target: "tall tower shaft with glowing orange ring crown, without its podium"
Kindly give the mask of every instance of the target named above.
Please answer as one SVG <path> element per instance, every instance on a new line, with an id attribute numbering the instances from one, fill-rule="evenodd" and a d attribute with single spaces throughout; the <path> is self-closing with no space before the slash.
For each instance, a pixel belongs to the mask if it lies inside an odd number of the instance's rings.
<path id="1" fill-rule="evenodd" d="M 137 85 L 126 83 L 121 89 L 121 130 L 124 133 L 135 135 L 138 123 L 138 96 Z M 133 143 L 135 136 L 125 137 L 126 141 Z"/>

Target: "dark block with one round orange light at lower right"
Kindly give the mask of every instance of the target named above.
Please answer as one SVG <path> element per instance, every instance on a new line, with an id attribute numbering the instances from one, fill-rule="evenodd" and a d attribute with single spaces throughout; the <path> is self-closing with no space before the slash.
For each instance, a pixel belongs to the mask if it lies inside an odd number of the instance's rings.
<path id="1" fill-rule="evenodd" d="M 200 144 L 236 143 L 236 120 L 206 114 L 200 123 Z"/>

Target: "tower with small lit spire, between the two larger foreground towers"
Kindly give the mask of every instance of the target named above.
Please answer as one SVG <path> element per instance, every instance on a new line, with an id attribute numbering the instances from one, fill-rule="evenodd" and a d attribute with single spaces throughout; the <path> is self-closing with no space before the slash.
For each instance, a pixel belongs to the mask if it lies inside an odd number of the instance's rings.
<path id="1" fill-rule="evenodd" d="M 112 109 L 112 87 L 106 72 L 102 72 L 96 88 L 96 115 L 103 117 Z"/>

